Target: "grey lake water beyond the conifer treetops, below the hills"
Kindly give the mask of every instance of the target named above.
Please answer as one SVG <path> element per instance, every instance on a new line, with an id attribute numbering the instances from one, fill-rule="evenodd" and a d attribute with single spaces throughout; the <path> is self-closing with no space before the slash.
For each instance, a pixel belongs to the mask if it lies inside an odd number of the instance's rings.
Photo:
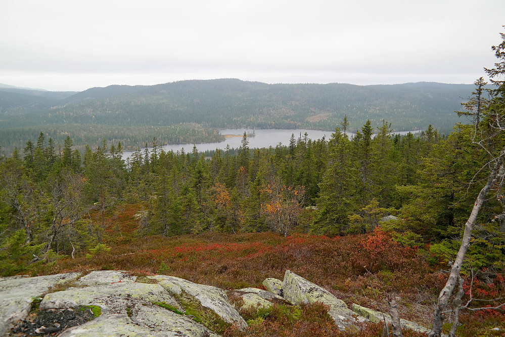
<path id="1" fill-rule="evenodd" d="M 302 137 L 305 133 L 307 133 L 308 138 L 312 140 L 325 139 L 328 141 L 334 133 L 334 131 L 320 131 L 320 130 L 305 130 L 305 129 L 219 129 L 221 135 L 237 135 L 239 137 L 231 137 L 227 138 L 222 142 L 213 142 L 213 143 L 200 143 L 200 144 L 167 144 L 163 145 L 162 148 L 166 152 L 180 151 L 182 148 L 185 152 L 193 151 L 193 145 L 196 145 L 198 151 L 213 151 L 215 149 L 226 149 L 226 146 L 229 145 L 230 148 L 239 148 L 242 142 L 242 136 L 244 132 L 251 134 L 254 132 L 254 137 L 248 137 L 249 148 L 262 148 L 262 147 L 276 147 L 279 143 L 282 145 L 289 145 L 289 140 L 291 139 L 291 135 L 295 135 L 295 140 Z M 418 133 L 421 130 L 416 131 L 399 131 L 394 134 L 406 135 L 407 133 Z M 349 137 L 354 136 L 353 133 L 347 133 Z M 143 151 L 144 149 L 141 149 Z M 126 159 L 130 156 L 134 151 L 123 151 L 123 158 Z"/>

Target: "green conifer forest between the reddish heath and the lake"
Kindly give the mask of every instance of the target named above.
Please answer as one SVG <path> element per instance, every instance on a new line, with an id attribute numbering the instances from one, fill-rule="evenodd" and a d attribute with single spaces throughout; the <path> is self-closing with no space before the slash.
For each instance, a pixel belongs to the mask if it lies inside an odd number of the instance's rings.
<path id="1" fill-rule="evenodd" d="M 445 138 L 431 127 L 420 137 L 390 132 L 384 121 L 373 137 L 367 121 L 353 138 L 337 129 L 328 140 L 293 135 L 289 146 L 268 149 L 249 149 L 244 136 L 235 154 L 216 150 L 210 158 L 154 144 L 126 161 L 120 143 L 104 141 L 81 155 L 69 137 L 57 150 L 41 133 L 2 161 L 2 270 L 22 271 L 33 255 L 78 257 L 107 241 L 111 212 L 139 203 L 141 236 L 347 235 L 374 231 L 381 217 L 394 215 L 402 220 L 381 227 L 399 242 L 449 259 L 480 186 L 468 163 L 483 165 L 485 152 L 469 142 L 469 124 Z M 500 207 L 490 200 L 483 224 Z M 474 263 L 501 266 L 503 225 L 478 230 Z"/>

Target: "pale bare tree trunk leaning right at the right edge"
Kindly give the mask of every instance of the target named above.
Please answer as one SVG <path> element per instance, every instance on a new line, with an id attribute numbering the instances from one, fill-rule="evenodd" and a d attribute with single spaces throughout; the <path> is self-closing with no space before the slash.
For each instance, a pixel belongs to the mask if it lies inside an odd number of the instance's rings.
<path id="1" fill-rule="evenodd" d="M 472 208 L 472 213 L 470 213 L 470 216 L 468 217 L 468 220 L 465 224 L 465 231 L 463 233 L 463 240 L 461 242 L 460 249 L 457 252 L 454 264 L 452 265 L 449 278 L 447 279 L 444 288 L 442 289 L 442 291 L 440 291 L 440 294 L 438 296 L 437 309 L 435 310 L 435 314 L 433 317 L 433 327 L 429 333 L 429 337 L 439 337 L 440 334 L 442 333 L 442 324 L 444 321 L 443 314 L 444 311 L 447 309 L 447 305 L 449 303 L 454 287 L 457 284 L 458 279 L 460 278 L 461 266 L 463 265 L 463 260 L 465 259 L 468 247 L 470 246 L 472 229 L 477 220 L 477 216 L 479 215 L 479 210 L 486 201 L 489 192 L 493 188 L 497 187 L 501 183 L 501 180 L 503 179 L 504 155 L 505 155 L 505 149 L 502 149 L 500 155 L 496 158 L 496 162 L 493 166 L 491 173 L 489 174 L 486 185 L 481 189 L 479 196 L 475 200 L 475 204 Z"/>

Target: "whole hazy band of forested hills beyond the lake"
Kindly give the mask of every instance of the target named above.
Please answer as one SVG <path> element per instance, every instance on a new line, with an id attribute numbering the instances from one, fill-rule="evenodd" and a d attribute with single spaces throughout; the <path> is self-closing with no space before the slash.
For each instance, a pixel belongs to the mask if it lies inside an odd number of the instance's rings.
<path id="1" fill-rule="evenodd" d="M 54 129 L 59 134 L 71 132 L 76 143 L 89 140 L 88 136 L 103 138 L 99 135 L 114 131 L 115 139 L 137 146 L 134 143 L 139 139 L 149 139 L 140 134 L 121 135 L 123 130 L 139 126 L 163 129 L 181 124 L 202 129 L 334 130 L 347 115 L 352 131 L 359 129 L 366 119 L 372 121 L 373 127 L 385 119 L 395 130 L 425 129 L 432 124 L 448 133 L 457 120 L 454 110 L 461 109 L 460 103 L 472 91 L 473 85 L 435 82 L 376 86 L 269 85 L 239 79 L 109 86 L 78 93 L 0 88 L 3 124 L 0 131 L 4 128 L 10 134 L 18 130 L 28 135 L 27 130 L 37 134 Z M 5 143 L 0 137 L 0 144 Z"/>

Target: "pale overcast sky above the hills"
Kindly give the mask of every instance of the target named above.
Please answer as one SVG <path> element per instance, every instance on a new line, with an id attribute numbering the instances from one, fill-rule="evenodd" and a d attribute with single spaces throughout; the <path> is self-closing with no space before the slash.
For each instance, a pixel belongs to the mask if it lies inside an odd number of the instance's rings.
<path id="1" fill-rule="evenodd" d="M 472 83 L 503 0 L 1 0 L 0 83 Z"/>

